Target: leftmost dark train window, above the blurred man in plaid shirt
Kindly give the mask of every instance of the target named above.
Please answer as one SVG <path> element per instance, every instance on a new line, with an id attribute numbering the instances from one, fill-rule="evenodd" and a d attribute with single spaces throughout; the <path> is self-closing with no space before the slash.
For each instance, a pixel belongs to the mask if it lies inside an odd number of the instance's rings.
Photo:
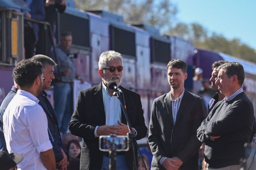
<path id="1" fill-rule="evenodd" d="M 73 44 L 90 47 L 89 20 L 67 13 L 60 14 L 60 33 L 71 32 Z"/>

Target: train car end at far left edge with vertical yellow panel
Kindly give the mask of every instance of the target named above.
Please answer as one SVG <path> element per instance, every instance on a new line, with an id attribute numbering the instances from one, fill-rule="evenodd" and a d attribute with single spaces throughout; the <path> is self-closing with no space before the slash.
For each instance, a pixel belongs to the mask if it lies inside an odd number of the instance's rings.
<path id="1" fill-rule="evenodd" d="M 24 58 L 21 9 L 28 10 L 24 1 L 0 1 L 0 104 L 13 85 L 13 67 Z"/>

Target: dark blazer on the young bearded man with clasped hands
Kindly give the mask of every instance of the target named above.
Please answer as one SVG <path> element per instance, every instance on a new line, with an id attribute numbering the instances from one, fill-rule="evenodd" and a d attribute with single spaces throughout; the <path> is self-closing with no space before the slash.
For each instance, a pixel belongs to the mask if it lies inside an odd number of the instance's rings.
<path id="1" fill-rule="evenodd" d="M 183 161 L 180 169 L 199 170 L 197 128 L 205 119 L 203 99 L 185 90 L 176 123 L 173 123 L 170 92 L 153 102 L 149 123 L 148 142 L 153 153 L 151 169 L 165 169 L 162 157 L 178 157 Z"/>

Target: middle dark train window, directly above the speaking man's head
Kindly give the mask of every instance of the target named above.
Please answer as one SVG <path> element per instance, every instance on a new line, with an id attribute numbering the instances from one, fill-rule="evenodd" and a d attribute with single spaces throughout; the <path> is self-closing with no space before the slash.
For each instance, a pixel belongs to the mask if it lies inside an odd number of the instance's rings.
<path id="1" fill-rule="evenodd" d="M 135 48 L 135 33 L 119 29 L 116 27 L 111 28 L 111 49 L 121 54 L 136 56 Z"/>

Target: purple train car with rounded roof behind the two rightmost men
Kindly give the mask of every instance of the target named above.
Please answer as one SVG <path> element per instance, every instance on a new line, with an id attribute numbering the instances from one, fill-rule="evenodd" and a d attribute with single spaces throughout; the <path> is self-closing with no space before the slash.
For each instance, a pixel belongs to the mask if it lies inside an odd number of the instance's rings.
<path id="1" fill-rule="evenodd" d="M 215 61 L 227 60 L 230 62 L 239 62 L 244 66 L 245 70 L 245 81 L 243 84 L 243 89 L 251 100 L 254 108 L 256 108 L 256 64 L 230 56 L 221 52 L 213 52 L 203 49 L 196 49 L 195 54 L 190 56 L 187 60 L 191 65 L 195 65 L 203 68 L 203 78 L 210 79 L 212 73 L 212 64 Z M 256 116 L 256 110 L 254 110 L 254 115 Z"/>

